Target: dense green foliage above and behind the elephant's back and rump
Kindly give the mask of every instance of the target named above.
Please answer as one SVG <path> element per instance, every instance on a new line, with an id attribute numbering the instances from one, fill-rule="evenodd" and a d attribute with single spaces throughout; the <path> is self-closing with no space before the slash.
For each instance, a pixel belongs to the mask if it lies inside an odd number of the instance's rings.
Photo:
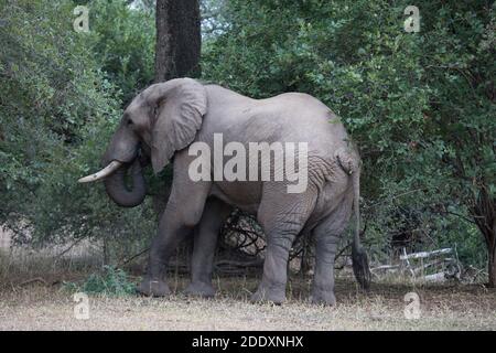
<path id="1" fill-rule="evenodd" d="M 418 1 L 420 32 L 407 33 L 408 4 L 231 0 L 229 26 L 204 43 L 204 77 L 254 97 L 309 93 L 342 117 L 360 147 L 378 257 L 407 228 L 423 235 L 412 249 L 457 244 L 479 264 L 471 212 L 496 189 L 496 7 Z M 422 216 L 392 217 L 402 210 Z"/>

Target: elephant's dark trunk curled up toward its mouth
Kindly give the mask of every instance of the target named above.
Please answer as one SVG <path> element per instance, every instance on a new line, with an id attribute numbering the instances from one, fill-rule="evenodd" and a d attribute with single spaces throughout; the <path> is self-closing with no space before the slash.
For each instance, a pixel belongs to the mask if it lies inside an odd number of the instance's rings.
<path id="1" fill-rule="evenodd" d="M 132 180 L 131 190 L 128 190 L 125 181 L 128 171 L 130 172 Z M 130 167 L 129 164 L 120 167 L 114 174 L 104 180 L 104 184 L 107 194 L 119 206 L 134 207 L 144 200 L 144 178 L 138 159 L 134 159 Z"/>

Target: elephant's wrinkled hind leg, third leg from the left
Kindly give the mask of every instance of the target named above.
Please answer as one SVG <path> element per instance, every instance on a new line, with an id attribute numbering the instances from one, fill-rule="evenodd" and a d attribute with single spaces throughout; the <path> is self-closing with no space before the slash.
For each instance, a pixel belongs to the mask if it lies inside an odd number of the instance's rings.
<path id="1" fill-rule="evenodd" d="M 289 252 L 296 235 L 312 213 L 316 192 L 306 190 L 301 194 L 288 194 L 285 186 L 271 190 L 263 195 L 258 211 L 267 235 L 267 252 L 263 276 L 252 301 L 285 301 Z"/>

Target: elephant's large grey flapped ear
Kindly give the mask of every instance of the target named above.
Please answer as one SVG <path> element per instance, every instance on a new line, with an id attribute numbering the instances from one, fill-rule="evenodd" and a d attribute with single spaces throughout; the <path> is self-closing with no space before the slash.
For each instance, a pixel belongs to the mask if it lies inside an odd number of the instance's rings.
<path id="1" fill-rule="evenodd" d="M 174 156 L 190 146 L 202 127 L 207 99 L 205 87 L 191 78 L 176 78 L 150 88 L 154 103 L 151 160 L 159 173 Z"/>

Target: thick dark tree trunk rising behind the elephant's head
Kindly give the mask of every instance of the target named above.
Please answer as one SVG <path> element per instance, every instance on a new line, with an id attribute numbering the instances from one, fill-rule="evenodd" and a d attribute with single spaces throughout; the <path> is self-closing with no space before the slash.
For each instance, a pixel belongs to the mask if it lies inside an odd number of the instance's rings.
<path id="1" fill-rule="evenodd" d="M 157 0 L 155 82 L 200 76 L 198 0 Z"/>

